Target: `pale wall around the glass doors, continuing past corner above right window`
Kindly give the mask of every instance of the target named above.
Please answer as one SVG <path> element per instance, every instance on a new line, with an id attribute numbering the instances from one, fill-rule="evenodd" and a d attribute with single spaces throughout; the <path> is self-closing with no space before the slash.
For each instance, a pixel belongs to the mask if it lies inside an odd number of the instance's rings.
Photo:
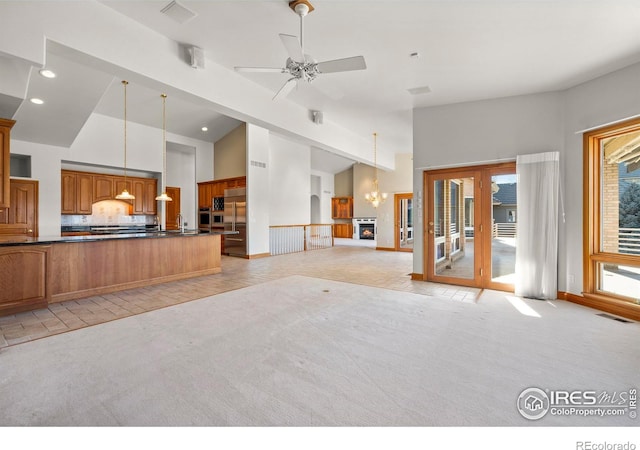
<path id="1" fill-rule="evenodd" d="M 560 151 L 561 194 L 558 289 L 583 285 L 582 131 L 640 115 L 640 64 L 563 92 L 462 103 L 414 111 L 414 197 L 424 168 L 513 159 Z M 416 211 L 416 219 L 418 216 Z M 423 273 L 423 227 L 415 233 L 414 272 Z M 419 242 L 418 242 L 419 240 Z"/>

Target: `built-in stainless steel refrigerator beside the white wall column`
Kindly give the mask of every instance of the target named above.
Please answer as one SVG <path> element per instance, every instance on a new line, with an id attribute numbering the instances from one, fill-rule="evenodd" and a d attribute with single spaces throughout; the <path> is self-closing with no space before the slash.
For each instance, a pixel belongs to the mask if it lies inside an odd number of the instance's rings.
<path id="1" fill-rule="evenodd" d="M 247 189 L 225 189 L 224 231 L 238 234 L 224 236 L 224 253 L 230 256 L 247 256 Z"/>

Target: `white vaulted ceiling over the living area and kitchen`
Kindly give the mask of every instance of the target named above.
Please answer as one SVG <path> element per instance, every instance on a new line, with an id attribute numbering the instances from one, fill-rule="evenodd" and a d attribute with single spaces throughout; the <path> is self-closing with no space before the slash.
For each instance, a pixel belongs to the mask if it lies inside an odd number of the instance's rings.
<path id="1" fill-rule="evenodd" d="M 299 18 L 286 0 L 178 0 L 193 13 L 182 22 L 162 12 L 169 0 L 98 3 L 183 48 L 202 49 L 205 64 L 229 71 L 284 66 L 287 53 L 278 34 L 300 34 Z M 367 69 L 322 74 L 277 101 L 322 111 L 325 121 L 348 123 L 362 135 L 377 131 L 393 152 L 413 150 L 413 108 L 563 90 L 640 61 L 637 1 L 312 3 L 315 10 L 304 19 L 305 53 L 318 61 L 362 55 Z M 122 88 L 113 71 L 72 58 L 53 43 L 47 65 L 64 74 L 65 85 L 56 84 L 56 92 L 33 68 L 0 55 L 0 115 L 19 118 L 16 139 L 64 146 L 87 114 L 122 116 Z M 234 75 L 274 94 L 287 80 L 279 73 Z M 138 107 L 130 108 L 131 120 L 159 126 L 159 89 L 133 83 L 130 104 Z M 25 101 L 37 95 L 64 98 L 64 110 L 48 110 L 43 117 Z M 170 102 L 169 132 L 213 141 L 237 124 L 197 99 L 173 96 Z M 208 134 L 203 135 L 203 125 Z"/>

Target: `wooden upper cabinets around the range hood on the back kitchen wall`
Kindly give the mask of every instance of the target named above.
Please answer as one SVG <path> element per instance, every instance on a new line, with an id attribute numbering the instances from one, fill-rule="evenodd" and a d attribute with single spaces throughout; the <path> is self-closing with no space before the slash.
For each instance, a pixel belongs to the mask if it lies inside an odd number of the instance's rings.
<path id="1" fill-rule="evenodd" d="M 134 200 L 120 200 L 131 205 L 131 214 L 157 214 L 156 196 L 158 180 L 105 175 L 89 172 L 63 170 L 61 176 L 62 214 L 91 214 L 91 205 L 101 200 L 113 200 L 126 189 L 135 196 Z"/>

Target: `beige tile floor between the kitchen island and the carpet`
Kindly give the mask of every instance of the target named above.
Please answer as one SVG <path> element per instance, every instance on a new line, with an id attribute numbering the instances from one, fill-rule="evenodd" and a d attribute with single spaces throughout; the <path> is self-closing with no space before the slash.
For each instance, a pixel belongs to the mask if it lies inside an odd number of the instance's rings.
<path id="1" fill-rule="evenodd" d="M 290 275 L 476 301 L 479 289 L 412 281 L 412 258 L 411 253 L 353 246 L 252 260 L 223 256 L 220 274 L 53 303 L 47 309 L 0 317 L 0 348 Z"/>

